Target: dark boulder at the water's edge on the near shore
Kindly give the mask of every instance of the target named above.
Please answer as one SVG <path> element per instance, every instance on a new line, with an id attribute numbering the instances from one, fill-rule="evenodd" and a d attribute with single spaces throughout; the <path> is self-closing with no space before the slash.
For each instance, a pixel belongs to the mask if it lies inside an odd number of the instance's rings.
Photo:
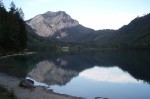
<path id="1" fill-rule="evenodd" d="M 29 89 L 35 88 L 34 81 L 32 81 L 30 79 L 23 79 L 20 82 L 19 86 L 23 87 L 23 88 L 29 88 Z"/>

